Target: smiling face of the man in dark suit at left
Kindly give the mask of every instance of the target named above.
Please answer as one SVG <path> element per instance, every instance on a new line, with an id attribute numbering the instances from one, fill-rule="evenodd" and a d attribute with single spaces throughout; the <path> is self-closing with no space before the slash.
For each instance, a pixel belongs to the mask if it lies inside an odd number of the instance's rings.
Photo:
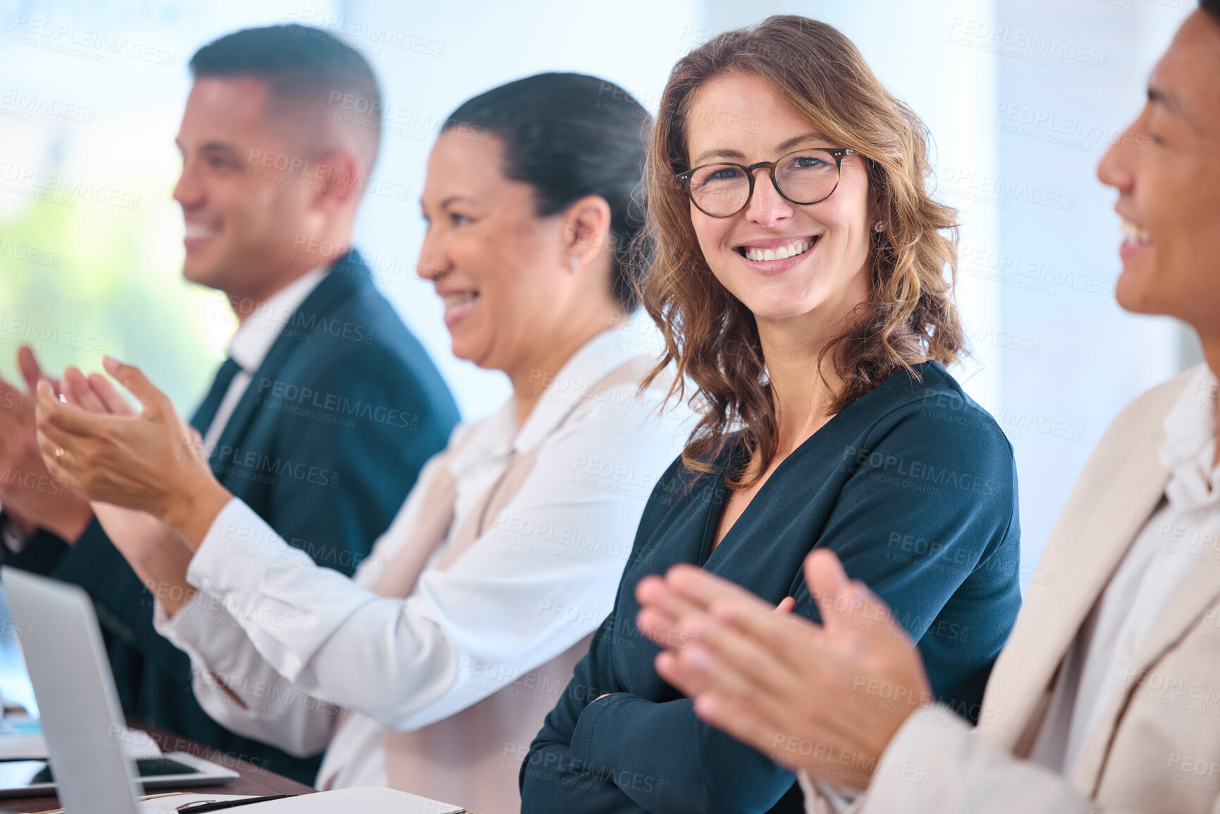
<path id="1" fill-rule="evenodd" d="M 253 77 L 203 77 L 178 132 L 183 276 L 232 297 L 261 299 L 307 271 L 294 268 L 293 245 L 311 217 L 311 187 L 299 171 L 277 168 L 306 156 L 266 115 L 267 93 Z"/>

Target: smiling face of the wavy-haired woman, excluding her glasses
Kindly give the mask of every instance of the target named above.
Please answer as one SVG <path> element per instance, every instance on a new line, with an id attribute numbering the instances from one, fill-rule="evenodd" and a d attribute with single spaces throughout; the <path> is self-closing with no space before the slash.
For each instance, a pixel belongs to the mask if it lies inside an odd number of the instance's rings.
<path id="1" fill-rule="evenodd" d="M 750 165 L 793 150 L 838 148 L 781 99 L 766 81 L 731 72 L 705 82 L 691 100 L 687 157 Z M 844 156 L 838 187 L 816 204 L 793 204 L 765 170 L 741 212 L 711 217 L 693 204 L 691 221 L 716 279 L 759 321 L 810 320 L 838 327 L 869 297 L 869 178 L 864 159 Z M 765 253 L 789 255 L 766 260 Z M 752 259 L 753 258 L 753 259 Z"/>

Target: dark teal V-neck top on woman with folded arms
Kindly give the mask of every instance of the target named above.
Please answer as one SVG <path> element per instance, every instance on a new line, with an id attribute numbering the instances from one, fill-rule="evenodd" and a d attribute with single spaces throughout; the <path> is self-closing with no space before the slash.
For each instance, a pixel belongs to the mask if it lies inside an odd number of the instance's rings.
<path id="1" fill-rule="evenodd" d="M 830 548 L 919 643 L 936 697 L 977 719 L 1021 603 L 1016 469 L 999 426 L 944 367 L 915 367 L 919 381 L 895 373 L 788 455 L 715 549 L 744 444 L 728 438 L 712 472 L 680 459 L 661 476 L 614 613 L 522 763 L 522 814 L 803 814 L 795 775 L 704 724 L 656 674 L 636 585 L 676 563 L 772 604 L 795 597 L 792 613 L 816 620 L 802 565 Z"/>

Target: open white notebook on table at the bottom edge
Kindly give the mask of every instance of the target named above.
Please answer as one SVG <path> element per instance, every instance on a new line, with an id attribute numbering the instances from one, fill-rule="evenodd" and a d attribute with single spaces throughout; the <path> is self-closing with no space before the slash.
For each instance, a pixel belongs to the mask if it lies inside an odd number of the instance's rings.
<path id="1" fill-rule="evenodd" d="M 249 794 L 168 794 L 140 803 L 143 814 L 177 814 L 181 805 L 194 802 L 242 799 Z M 462 814 L 461 805 L 439 803 L 427 797 L 394 788 L 356 786 L 320 791 L 315 794 L 285 797 L 266 803 L 250 803 L 232 809 L 233 814 Z"/>

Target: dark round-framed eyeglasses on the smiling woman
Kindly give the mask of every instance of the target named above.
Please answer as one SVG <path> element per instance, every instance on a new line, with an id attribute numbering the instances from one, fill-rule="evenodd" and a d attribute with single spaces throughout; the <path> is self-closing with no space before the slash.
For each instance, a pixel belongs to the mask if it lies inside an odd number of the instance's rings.
<path id="1" fill-rule="evenodd" d="M 754 196 L 754 173 L 766 168 L 775 190 L 792 204 L 816 204 L 838 188 L 843 156 L 859 155 L 847 148 L 811 148 L 756 164 L 700 164 L 680 172 L 691 201 L 711 217 L 730 217 L 745 209 Z"/>

